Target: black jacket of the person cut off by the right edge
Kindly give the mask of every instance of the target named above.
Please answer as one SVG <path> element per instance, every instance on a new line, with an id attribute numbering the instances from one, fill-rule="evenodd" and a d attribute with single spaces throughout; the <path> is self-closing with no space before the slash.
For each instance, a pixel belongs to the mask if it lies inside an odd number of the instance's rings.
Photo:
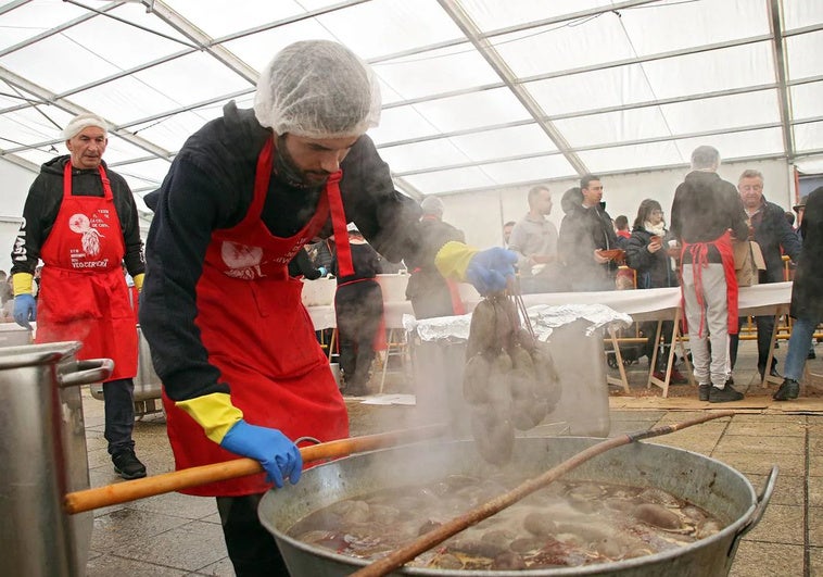
<path id="1" fill-rule="evenodd" d="M 797 259 L 790 314 L 820 323 L 823 321 L 823 187 L 809 195 L 800 229 L 803 248 Z"/>

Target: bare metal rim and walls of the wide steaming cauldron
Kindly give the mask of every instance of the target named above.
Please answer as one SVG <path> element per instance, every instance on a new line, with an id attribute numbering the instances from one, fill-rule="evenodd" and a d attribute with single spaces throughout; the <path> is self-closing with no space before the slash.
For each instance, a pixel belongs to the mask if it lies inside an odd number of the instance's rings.
<path id="1" fill-rule="evenodd" d="M 519 438 L 512 462 L 517 463 L 519 473 L 536 476 L 600 440 L 581 437 Z M 482 477 L 488 472 L 489 465 L 474 450 L 473 441 L 385 449 L 308 469 L 296 486 L 269 491 L 261 501 L 257 513 L 275 536 L 291 575 L 350 575 L 366 563 L 308 545 L 288 537 L 284 531 L 308 513 L 342 499 L 436 479 L 450 473 Z M 739 539 L 757 525 L 769 503 L 775 477 L 776 469 L 773 469 L 763 493 L 758 497 L 746 477 L 713 459 L 656 444 L 623 446 L 588 461 L 566 478 L 657 487 L 706 509 L 729 525 L 712 537 L 675 551 L 585 567 L 531 572 L 412 567 L 397 574 L 455 577 L 727 575 Z"/>

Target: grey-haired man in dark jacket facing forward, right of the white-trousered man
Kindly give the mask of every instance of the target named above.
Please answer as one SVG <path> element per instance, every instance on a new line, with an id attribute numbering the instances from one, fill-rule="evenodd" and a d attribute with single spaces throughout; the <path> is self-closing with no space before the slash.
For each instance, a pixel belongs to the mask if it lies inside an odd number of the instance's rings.
<path id="1" fill-rule="evenodd" d="M 797 261 L 800 254 L 800 241 L 786 221 L 784 210 L 774 202 L 768 202 L 763 196 L 763 175 L 759 171 L 747 170 L 737 181 L 737 191 L 740 193 L 749 226 L 754 230 L 754 240 L 760 246 L 765 261 L 765 271 L 760 271 L 758 283 L 783 281 L 783 252 L 793 261 Z M 743 326 L 744 319 L 739 319 Z M 769 349 L 772 346 L 772 331 L 774 330 L 774 317 L 771 315 L 756 316 L 757 324 L 757 369 L 760 379 L 765 375 L 765 364 L 769 360 Z M 737 346 L 739 335 L 730 335 L 729 355 L 732 368 L 737 360 Z M 777 360 L 772 358 L 772 366 L 769 374 L 778 377 Z"/>

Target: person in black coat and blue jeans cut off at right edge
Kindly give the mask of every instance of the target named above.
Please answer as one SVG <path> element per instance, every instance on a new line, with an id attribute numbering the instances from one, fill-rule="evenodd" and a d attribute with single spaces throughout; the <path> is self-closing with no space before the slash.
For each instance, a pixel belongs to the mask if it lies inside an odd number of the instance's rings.
<path id="1" fill-rule="evenodd" d="M 775 401 L 797 399 L 800 394 L 800 377 L 818 324 L 823 321 L 823 187 L 814 189 L 806 200 L 806 213 L 800 223 L 803 247 L 797 260 L 795 283 L 792 286 L 789 314 L 795 319 L 786 354 L 785 379 Z"/>

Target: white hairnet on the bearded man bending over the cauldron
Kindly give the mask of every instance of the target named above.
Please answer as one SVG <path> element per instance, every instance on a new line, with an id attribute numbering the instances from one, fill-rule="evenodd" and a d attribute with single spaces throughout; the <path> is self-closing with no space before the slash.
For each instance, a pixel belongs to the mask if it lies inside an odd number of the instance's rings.
<path id="1" fill-rule="evenodd" d="M 344 46 L 294 42 L 261 73 L 254 115 L 277 135 L 360 136 L 380 121 L 380 87 L 371 70 Z"/>

